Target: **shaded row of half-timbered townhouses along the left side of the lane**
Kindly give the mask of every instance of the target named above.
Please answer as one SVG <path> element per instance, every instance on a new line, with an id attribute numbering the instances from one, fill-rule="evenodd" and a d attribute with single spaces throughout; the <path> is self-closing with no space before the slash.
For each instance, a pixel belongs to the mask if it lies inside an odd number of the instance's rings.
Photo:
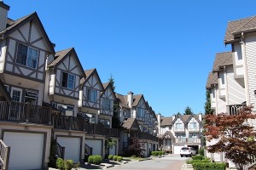
<path id="1" fill-rule="evenodd" d="M 116 141 L 109 150 L 112 155 L 129 153 L 132 137 L 144 143 L 144 156 L 159 149 L 157 117 L 143 95 L 115 94 L 109 82 L 101 82 L 96 69 L 84 71 L 74 48 L 55 52 L 37 13 L 11 20 L 8 11 L 1 2 L 0 163 L 4 169 L 47 167 L 52 139 L 57 155 L 74 162 L 83 161 L 84 155 L 104 156 L 109 138 Z M 113 128 L 114 108 L 119 128 Z"/>

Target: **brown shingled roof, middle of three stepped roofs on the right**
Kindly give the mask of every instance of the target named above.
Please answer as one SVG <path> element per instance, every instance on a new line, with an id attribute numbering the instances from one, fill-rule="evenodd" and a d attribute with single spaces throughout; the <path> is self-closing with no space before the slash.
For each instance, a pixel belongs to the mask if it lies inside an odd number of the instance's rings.
<path id="1" fill-rule="evenodd" d="M 232 52 L 218 53 L 215 55 L 212 71 L 220 71 L 220 68 L 227 65 L 233 65 Z"/>

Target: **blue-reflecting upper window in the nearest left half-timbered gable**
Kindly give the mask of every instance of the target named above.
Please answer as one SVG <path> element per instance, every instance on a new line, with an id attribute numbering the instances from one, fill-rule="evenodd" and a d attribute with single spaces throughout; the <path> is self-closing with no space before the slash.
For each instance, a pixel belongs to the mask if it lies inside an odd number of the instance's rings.
<path id="1" fill-rule="evenodd" d="M 16 63 L 26 65 L 34 69 L 37 68 L 38 50 L 19 43 Z"/>

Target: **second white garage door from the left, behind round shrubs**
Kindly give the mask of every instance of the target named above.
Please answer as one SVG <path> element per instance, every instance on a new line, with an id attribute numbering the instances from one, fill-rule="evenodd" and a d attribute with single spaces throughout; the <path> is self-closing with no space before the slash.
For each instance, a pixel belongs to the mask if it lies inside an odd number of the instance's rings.
<path id="1" fill-rule="evenodd" d="M 80 138 L 57 137 L 57 142 L 65 147 L 64 159 L 73 160 L 76 163 L 80 161 Z"/>

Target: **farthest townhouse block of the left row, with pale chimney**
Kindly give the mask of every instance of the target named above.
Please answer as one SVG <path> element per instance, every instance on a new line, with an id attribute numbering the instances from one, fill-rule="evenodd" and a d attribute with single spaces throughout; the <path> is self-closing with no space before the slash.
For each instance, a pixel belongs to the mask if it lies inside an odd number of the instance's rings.
<path id="1" fill-rule="evenodd" d="M 119 101 L 119 119 L 121 122 L 119 136 L 119 154 L 129 153 L 130 139 L 137 137 L 144 144 L 144 156 L 150 151 L 158 149 L 158 138 L 156 137 L 156 121 L 154 111 L 144 99 L 143 94 L 127 95 L 116 94 Z"/>

